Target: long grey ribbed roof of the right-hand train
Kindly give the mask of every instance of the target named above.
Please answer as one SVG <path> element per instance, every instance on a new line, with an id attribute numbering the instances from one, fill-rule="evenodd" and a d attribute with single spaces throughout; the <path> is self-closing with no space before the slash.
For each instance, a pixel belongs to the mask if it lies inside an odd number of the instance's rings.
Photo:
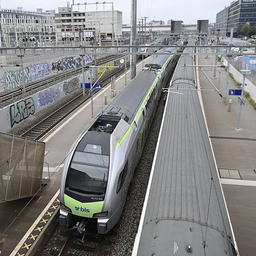
<path id="1" fill-rule="evenodd" d="M 194 64 L 190 56 L 180 58 L 172 88 L 195 88 L 194 68 L 185 63 Z M 236 255 L 198 92 L 173 91 L 184 95 L 169 93 L 166 102 L 137 255 Z"/>

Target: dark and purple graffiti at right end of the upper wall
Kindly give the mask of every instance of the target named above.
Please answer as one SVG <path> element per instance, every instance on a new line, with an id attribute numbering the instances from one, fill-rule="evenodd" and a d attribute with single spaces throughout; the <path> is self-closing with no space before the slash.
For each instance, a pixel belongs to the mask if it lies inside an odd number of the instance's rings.
<path id="1" fill-rule="evenodd" d="M 87 54 L 84 56 L 84 63 L 90 63 L 93 61 L 93 56 L 91 54 Z M 82 67 L 82 58 L 79 57 L 65 57 L 56 62 L 52 62 L 52 71 L 54 73 L 66 71 L 69 69 L 77 69 Z"/>

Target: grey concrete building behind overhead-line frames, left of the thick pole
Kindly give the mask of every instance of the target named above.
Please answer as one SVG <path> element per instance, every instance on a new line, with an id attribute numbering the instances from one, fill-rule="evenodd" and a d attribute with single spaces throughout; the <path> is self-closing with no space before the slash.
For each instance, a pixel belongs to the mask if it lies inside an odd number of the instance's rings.
<path id="1" fill-rule="evenodd" d="M 70 7 L 59 7 L 58 13 L 55 14 L 55 22 L 58 23 L 79 23 L 75 24 L 75 37 L 80 37 L 79 32 L 84 30 L 86 36 L 90 37 L 93 32 L 94 37 L 109 39 L 112 37 L 112 11 L 93 11 L 93 12 L 71 12 Z M 84 23 L 84 24 L 81 24 Z M 73 31 L 74 31 L 73 30 Z M 58 37 L 73 36 L 72 30 L 68 27 L 57 29 Z M 122 12 L 114 11 L 114 37 L 122 36 Z"/>

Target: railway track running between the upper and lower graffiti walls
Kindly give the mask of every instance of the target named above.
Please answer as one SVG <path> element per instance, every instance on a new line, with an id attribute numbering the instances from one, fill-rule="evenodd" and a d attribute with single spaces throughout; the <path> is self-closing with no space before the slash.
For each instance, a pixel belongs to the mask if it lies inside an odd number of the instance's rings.
<path id="1" fill-rule="evenodd" d="M 122 58 L 123 56 L 124 55 L 122 55 L 118 58 Z M 106 56 L 106 57 L 97 59 L 97 65 L 101 65 L 101 64 L 104 64 L 107 61 L 111 61 L 111 60 L 115 60 L 115 59 L 117 59 L 116 55 Z M 93 63 L 91 63 L 91 64 L 93 64 Z M 85 66 L 85 70 L 88 70 L 90 65 Z M 44 81 L 37 82 L 35 84 L 27 85 L 26 86 L 26 94 L 28 96 L 32 93 L 40 91 L 42 88 L 46 88 L 46 87 L 50 87 L 52 85 L 55 85 L 56 83 L 61 82 L 61 81 L 65 80 L 65 79 L 67 79 L 71 76 L 77 75 L 81 72 L 82 72 L 82 68 L 79 67 L 79 68 L 73 69 L 69 72 L 65 72 L 65 73 L 62 73 L 60 75 L 53 76 L 52 78 L 46 79 Z M 11 91 L 9 93 L 3 94 L 2 96 L 0 96 L 0 108 L 3 108 L 6 105 L 9 105 L 9 104 L 15 102 L 16 100 L 18 100 L 18 97 L 20 97 L 23 94 L 24 94 L 23 88 L 17 88 L 17 90 L 15 90 L 15 91 Z"/>

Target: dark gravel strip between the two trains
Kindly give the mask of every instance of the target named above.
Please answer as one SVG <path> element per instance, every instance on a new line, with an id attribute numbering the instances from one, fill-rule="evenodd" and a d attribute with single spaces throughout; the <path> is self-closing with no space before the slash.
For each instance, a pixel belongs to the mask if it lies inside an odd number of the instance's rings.
<path id="1" fill-rule="evenodd" d="M 111 251 L 110 255 L 112 256 L 128 256 L 131 255 L 133 251 L 133 243 L 139 227 L 163 111 L 165 109 L 165 106 L 163 106 L 164 95 L 165 94 L 163 94 L 159 101 L 141 160 L 134 173 L 133 183 L 129 188 L 121 218 L 113 228 L 113 231 L 116 232 L 116 236 L 113 238 L 114 242 L 111 247 L 108 247 L 108 250 Z"/>

